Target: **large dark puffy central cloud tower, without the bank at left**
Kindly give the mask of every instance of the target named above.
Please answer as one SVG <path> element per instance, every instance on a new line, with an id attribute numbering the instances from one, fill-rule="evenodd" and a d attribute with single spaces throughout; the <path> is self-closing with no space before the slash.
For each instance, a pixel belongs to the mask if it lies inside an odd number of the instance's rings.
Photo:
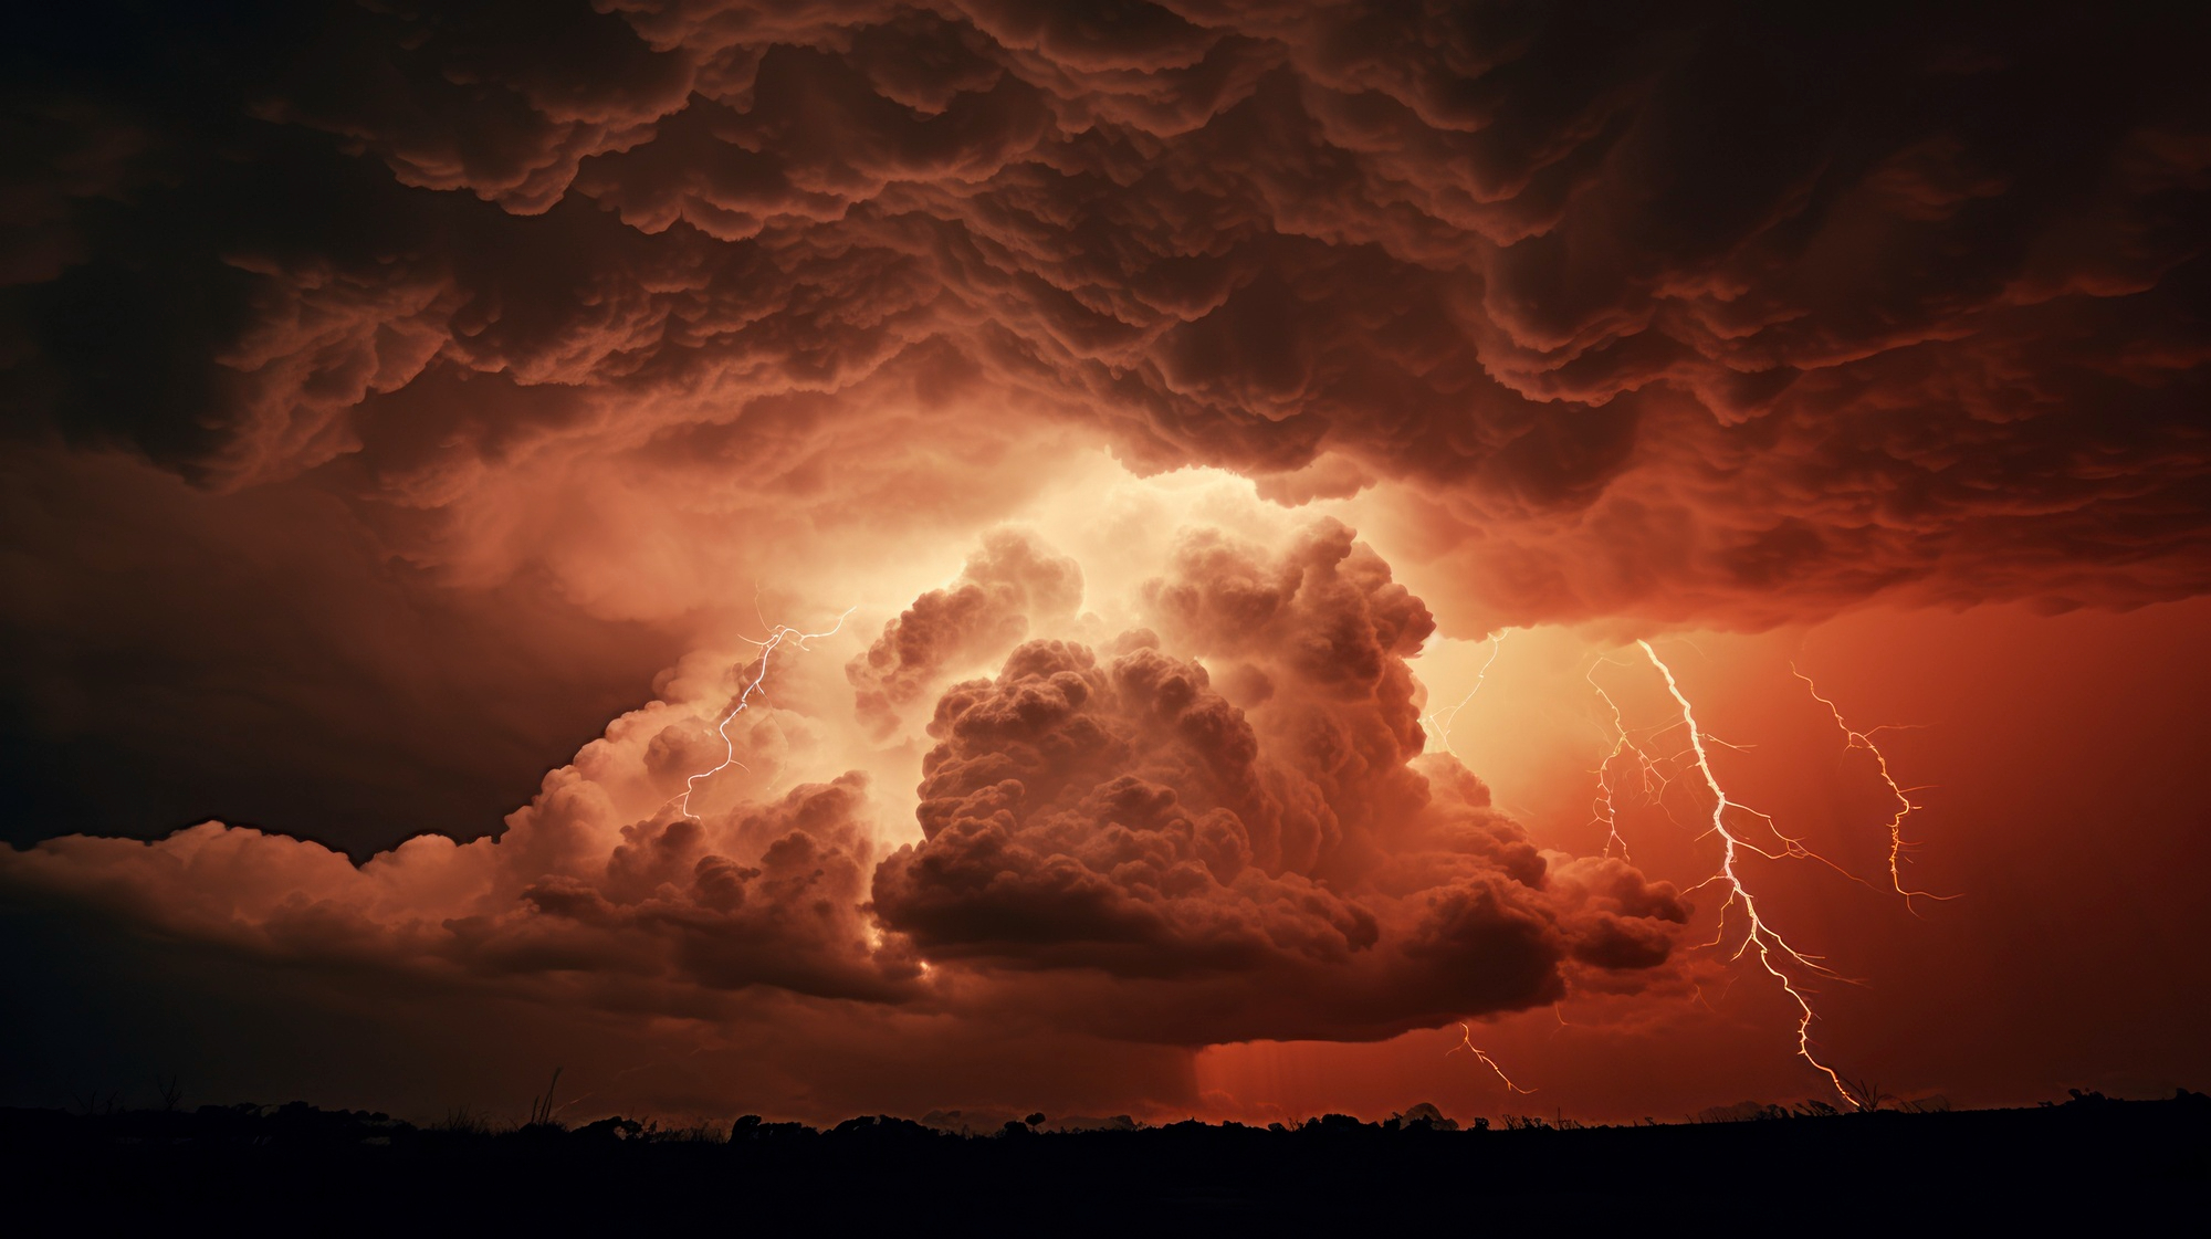
<path id="1" fill-rule="evenodd" d="M 937 701 L 926 839 L 873 881 L 920 951 L 1099 978 L 1055 1002 L 1190 1042 L 1389 1035 L 1552 1000 L 1570 958 L 1667 960 L 1672 887 L 1559 881 L 1457 761 L 1415 763 L 1435 624 L 1349 529 L 1194 531 L 1145 597 L 1156 633 L 1030 642 Z"/>

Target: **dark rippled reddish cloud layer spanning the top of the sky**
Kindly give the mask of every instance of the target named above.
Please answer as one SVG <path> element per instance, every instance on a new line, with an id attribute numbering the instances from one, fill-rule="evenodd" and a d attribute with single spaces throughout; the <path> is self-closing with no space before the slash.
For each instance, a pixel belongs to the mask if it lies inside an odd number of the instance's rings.
<path id="1" fill-rule="evenodd" d="M 411 551 L 506 571 L 557 553 L 484 544 L 486 476 L 811 485 L 979 400 L 1380 480 L 1477 628 L 2204 584 L 2196 13 L 265 18 L 27 66 L 20 425 L 217 485 L 347 460 L 442 518 Z"/>

